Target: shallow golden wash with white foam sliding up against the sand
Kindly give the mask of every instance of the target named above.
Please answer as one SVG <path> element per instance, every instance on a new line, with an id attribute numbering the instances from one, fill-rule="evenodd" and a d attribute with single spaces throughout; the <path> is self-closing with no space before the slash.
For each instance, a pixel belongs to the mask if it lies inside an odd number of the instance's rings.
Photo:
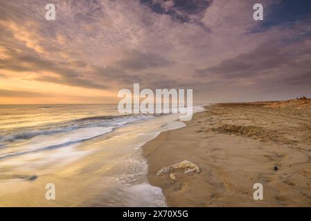
<path id="1" fill-rule="evenodd" d="M 177 119 L 179 115 L 140 119 L 34 157 L 3 159 L 0 206 L 165 206 L 161 189 L 147 181 L 141 146 L 161 131 L 184 126 Z M 48 183 L 55 184 L 56 200 L 45 198 Z"/>

